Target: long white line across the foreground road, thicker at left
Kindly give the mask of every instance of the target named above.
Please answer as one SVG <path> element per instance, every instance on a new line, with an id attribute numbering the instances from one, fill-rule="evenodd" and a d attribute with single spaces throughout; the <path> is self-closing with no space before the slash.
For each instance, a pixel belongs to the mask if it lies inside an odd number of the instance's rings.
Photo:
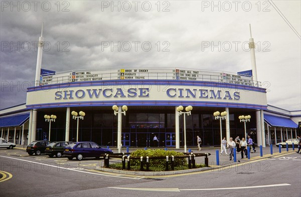
<path id="1" fill-rule="evenodd" d="M 199 191 L 199 190 L 224 190 L 224 189 L 248 189 L 248 188 L 262 188 L 262 187 L 276 187 L 276 186 L 288 186 L 290 184 L 281 183 L 281 184 L 267 184 L 267 185 L 257 185 L 257 186 L 243 186 L 243 187 L 224 187 L 224 188 L 203 188 L 203 189 L 179 189 L 179 188 L 135 188 L 135 187 L 108 187 L 114 189 L 127 189 L 127 190 L 139 190 L 139 191 L 170 191 L 170 192 L 179 192 L 179 191 Z"/>

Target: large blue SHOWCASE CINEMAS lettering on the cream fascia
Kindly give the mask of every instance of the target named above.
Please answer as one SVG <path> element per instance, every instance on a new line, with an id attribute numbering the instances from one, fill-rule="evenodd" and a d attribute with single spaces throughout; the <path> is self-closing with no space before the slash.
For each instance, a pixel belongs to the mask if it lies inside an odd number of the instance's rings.
<path id="1" fill-rule="evenodd" d="M 213 90 L 213 89 L 197 89 L 197 88 L 168 88 L 164 91 L 158 91 L 155 88 L 106 88 L 106 89 L 79 89 L 64 90 L 55 92 L 55 100 L 69 99 L 101 99 L 101 98 L 149 98 L 152 94 L 156 96 L 164 96 L 169 98 L 199 98 L 199 99 L 226 99 L 239 100 L 240 92 Z"/>

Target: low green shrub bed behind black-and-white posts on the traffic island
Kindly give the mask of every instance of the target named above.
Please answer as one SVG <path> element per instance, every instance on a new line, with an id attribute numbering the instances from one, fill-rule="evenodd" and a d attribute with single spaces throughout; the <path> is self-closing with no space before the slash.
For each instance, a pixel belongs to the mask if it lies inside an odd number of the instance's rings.
<path id="1" fill-rule="evenodd" d="M 172 159 L 172 155 L 180 156 L 184 155 L 183 152 L 176 152 L 174 150 L 163 150 L 163 149 L 148 149 L 148 150 L 136 150 L 130 154 L 130 156 L 169 156 L 169 160 Z M 184 166 L 187 164 L 186 158 L 175 158 L 175 167 Z M 166 159 L 149 159 L 149 170 L 154 171 L 164 171 L 165 170 Z M 140 166 L 140 160 L 132 159 L 132 166 Z M 144 163 L 145 165 L 145 163 Z"/>

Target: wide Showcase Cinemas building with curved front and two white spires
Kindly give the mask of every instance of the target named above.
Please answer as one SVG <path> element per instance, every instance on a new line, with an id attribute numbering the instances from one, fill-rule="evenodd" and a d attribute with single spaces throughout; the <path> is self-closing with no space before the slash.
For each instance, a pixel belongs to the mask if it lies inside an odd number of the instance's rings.
<path id="1" fill-rule="evenodd" d="M 185 141 L 196 146 L 197 135 L 204 146 L 219 146 L 222 133 L 228 140 L 250 135 L 265 147 L 299 132 L 300 110 L 267 104 L 266 87 L 257 81 L 253 39 L 252 70 L 238 73 L 123 66 L 55 73 L 41 69 L 42 35 L 39 41 L 36 86 L 28 88 L 26 103 L 0 111 L 1 136 L 12 142 L 50 135 L 50 141 L 94 141 L 118 149 L 181 148 Z M 187 106 L 192 110 L 182 113 Z M 216 111 L 227 113 L 216 117 Z M 243 122 L 241 115 L 251 118 Z"/>

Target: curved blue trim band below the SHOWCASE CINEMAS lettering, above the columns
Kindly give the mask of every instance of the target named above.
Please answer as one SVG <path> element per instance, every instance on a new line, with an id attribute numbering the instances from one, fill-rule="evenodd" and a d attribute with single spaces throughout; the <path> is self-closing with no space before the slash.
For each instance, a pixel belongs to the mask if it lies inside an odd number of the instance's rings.
<path id="1" fill-rule="evenodd" d="M 56 107 L 78 107 L 78 106 L 112 106 L 112 105 L 128 105 L 128 106 L 177 106 L 177 105 L 192 105 L 201 107 L 233 107 L 233 108 L 246 108 L 246 109 L 262 109 L 265 110 L 265 105 L 254 105 L 247 103 L 226 103 L 226 102 L 204 102 L 204 101 L 85 101 L 85 102 L 63 102 L 63 103 L 44 103 L 27 105 L 27 109 L 39 108 L 56 108 Z"/>

